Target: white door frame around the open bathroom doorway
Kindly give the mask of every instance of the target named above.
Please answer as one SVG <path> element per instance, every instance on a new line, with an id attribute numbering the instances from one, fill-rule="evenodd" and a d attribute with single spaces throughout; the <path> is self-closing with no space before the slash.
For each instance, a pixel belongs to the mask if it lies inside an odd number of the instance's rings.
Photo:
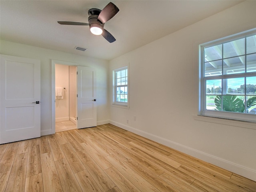
<path id="1" fill-rule="evenodd" d="M 52 59 L 52 127 L 49 134 L 55 133 L 55 64 L 79 66 L 78 63 Z"/>

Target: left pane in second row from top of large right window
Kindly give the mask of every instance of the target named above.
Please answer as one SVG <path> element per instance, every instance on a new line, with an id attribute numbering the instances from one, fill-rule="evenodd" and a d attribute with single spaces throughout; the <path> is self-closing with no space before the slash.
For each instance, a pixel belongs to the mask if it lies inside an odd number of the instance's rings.
<path id="1" fill-rule="evenodd" d="M 222 75 L 222 60 L 205 62 L 204 76 Z"/>

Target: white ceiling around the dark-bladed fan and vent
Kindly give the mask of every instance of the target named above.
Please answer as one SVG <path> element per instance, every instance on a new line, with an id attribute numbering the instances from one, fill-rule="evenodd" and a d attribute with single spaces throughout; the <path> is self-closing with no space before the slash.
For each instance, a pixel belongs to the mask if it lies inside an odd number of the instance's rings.
<path id="1" fill-rule="evenodd" d="M 90 33 L 88 10 L 109 0 L 0 0 L 2 40 L 111 60 L 172 32 L 241 3 L 240 0 L 112 0 L 120 11 L 104 28 L 116 41 Z M 76 46 L 88 48 L 85 52 Z"/>

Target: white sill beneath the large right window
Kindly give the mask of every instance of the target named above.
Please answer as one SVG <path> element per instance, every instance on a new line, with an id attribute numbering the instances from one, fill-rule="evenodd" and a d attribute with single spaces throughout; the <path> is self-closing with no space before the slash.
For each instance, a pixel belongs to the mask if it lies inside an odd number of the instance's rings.
<path id="1" fill-rule="evenodd" d="M 254 122 L 246 122 L 246 121 L 239 121 L 239 120 L 230 120 L 230 119 L 223 119 L 223 118 L 216 118 L 216 117 L 209 117 L 209 116 L 202 116 L 202 115 L 195 115 L 193 116 L 194 120 L 198 121 L 205 121 L 223 125 L 230 125 L 248 129 L 256 130 L 256 123 Z"/>

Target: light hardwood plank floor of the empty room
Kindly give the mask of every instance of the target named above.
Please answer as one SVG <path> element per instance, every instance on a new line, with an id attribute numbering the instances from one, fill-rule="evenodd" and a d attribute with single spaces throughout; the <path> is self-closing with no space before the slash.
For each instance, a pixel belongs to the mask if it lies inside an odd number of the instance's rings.
<path id="1" fill-rule="evenodd" d="M 0 192 L 256 192 L 256 182 L 111 124 L 0 145 Z"/>

